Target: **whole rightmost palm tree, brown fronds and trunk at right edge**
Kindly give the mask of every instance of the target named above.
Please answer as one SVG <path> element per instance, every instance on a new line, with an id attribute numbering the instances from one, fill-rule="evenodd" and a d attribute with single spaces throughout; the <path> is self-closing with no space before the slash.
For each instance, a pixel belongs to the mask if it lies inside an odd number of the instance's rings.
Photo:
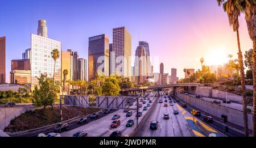
<path id="1" fill-rule="evenodd" d="M 250 39 L 253 41 L 253 136 L 256 136 L 256 0 L 246 0 L 242 9 L 245 10 L 245 20 Z"/>

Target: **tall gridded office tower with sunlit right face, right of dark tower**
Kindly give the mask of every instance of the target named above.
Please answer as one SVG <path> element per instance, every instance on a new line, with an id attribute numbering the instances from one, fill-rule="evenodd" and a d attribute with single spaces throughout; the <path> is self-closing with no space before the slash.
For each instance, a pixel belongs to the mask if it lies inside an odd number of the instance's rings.
<path id="1" fill-rule="evenodd" d="M 131 35 L 125 27 L 113 28 L 112 75 L 131 77 Z"/>

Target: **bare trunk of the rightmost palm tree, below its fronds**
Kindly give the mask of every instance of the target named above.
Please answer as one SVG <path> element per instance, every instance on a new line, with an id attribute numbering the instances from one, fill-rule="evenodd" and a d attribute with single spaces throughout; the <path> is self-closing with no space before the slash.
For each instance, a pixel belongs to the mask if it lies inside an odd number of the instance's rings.
<path id="1" fill-rule="evenodd" d="M 255 137 L 256 135 L 256 42 L 253 42 L 253 137 Z"/>

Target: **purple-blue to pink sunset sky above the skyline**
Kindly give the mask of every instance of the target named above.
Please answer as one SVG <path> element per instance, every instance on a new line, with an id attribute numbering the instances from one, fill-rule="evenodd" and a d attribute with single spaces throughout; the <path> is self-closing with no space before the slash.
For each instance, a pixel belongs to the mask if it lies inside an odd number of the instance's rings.
<path id="1" fill-rule="evenodd" d="M 30 34 L 39 19 L 46 19 L 48 37 L 61 41 L 62 50 L 72 49 L 88 59 L 88 38 L 105 33 L 112 43 L 112 29 L 125 26 L 132 36 L 132 55 L 138 41 L 147 41 L 154 59 L 164 73 L 184 68 L 226 62 L 237 57 L 236 33 L 216 0 L 0 0 L 0 36 L 6 36 L 6 79 L 11 60 L 22 58 L 30 48 Z M 252 46 L 244 15 L 240 16 L 240 41 L 244 53 Z"/>

